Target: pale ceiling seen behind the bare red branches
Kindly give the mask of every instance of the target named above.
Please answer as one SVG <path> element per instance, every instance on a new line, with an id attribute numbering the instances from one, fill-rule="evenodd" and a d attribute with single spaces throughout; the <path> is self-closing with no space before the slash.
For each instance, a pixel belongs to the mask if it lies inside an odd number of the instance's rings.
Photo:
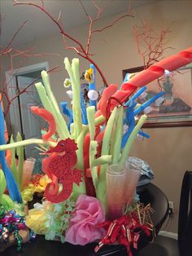
<path id="1" fill-rule="evenodd" d="M 20 0 L 20 2 L 24 1 Z M 41 1 L 33 2 L 41 3 Z M 85 16 L 85 11 L 83 11 L 78 0 L 45 0 L 44 2 L 46 9 L 55 17 L 59 15 L 59 11 L 62 11 L 61 17 L 64 27 L 67 30 L 88 22 L 88 19 Z M 83 0 L 82 2 L 90 15 L 96 15 L 96 8 L 92 1 Z M 109 1 L 97 1 L 99 6 L 103 6 L 106 2 Z M 148 2 L 151 1 L 133 0 L 131 1 L 131 7 L 135 8 Z M 126 11 L 128 4 L 128 0 L 111 0 L 101 18 Z M 15 31 L 20 27 L 20 24 L 22 24 L 24 20 L 28 20 L 28 22 L 14 39 L 12 46 L 19 46 L 20 44 L 31 42 L 36 38 L 46 37 L 49 34 L 54 34 L 58 31 L 58 28 L 53 22 L 35 7 L 13 6 L 12 0 L 0 0 L 0 12 L 2 16 L 1 46 L 6 46 L 7 43 L 10 42 Z"/>

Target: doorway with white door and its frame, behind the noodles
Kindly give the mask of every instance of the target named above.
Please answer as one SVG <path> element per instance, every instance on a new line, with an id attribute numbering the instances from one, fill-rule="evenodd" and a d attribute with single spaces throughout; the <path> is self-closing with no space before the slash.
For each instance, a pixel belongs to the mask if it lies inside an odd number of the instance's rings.
<path id="1" fill-rule="evenodd" d="M 8 71 L 6 73 L 7 81 L 12 77 L 11 84 L 7 86 L 8 95 L 13 97 L 15 94 L 24 90 L 28 85 L 36 82 L 42 82 L 41 71 L 48 70 L 48 63 L 35 64 L 20 68 L 18 71 Z M 37 78 L 39 79 L 37 80 Z M 41 100 L 34 85 L 30 86 L 26 92 L 22 93 L 13 101 L 10 108 L 11 132 L 14 139 L 19 131 L 23 139 L 41 138 L 41 128 L 46 128 L 46 121 L 33 115 L 30 111 L 31 106 L 42 107 Z M 25 157 L 37 158 L 39 152 L 34 145 L 28 145 L 24 149 Z"/>

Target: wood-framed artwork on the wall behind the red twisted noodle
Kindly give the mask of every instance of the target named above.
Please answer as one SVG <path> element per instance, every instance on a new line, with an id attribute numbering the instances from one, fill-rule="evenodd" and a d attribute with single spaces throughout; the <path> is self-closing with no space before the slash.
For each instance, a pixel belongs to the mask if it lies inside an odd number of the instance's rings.
<path id="1" fill-rule="evenodd" d="M 126 73 L 137 73 L 143 70 L 143 66 L 123 70 Z M 165 71 L 159 80 L 149 83 L 142 95 L 137 99 L 142 104 L 150 99 L 159 90 L 164 90 L 164 103 L 160 106 L 151 105 L 151 113 L 148 113 L 144 128 L 192 126 L 192 65 L 186 65 L 174 72 Z"/>

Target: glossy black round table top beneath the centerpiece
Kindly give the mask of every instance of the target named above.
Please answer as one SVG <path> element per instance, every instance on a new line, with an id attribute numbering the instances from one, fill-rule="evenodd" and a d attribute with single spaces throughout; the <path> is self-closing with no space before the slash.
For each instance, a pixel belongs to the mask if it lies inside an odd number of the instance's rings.
<path id="1" fill-rule="evenodd" d="M 168 215 L 168 199 L 159 188 L 150 183 L 140 194 L 140 200 L 144 204 L 151 203 L 151 207 L 155 210 L 151 214 L 151 219 L 155 225 L 155 229 L 159 232 L 161 225 L 164 223 Z M 147 244 L 144 241 L 141 248 Z M 46 241 L 44 236 L 37 236 L 35 241 L 25 243 L 23 251 L 17 253 L 15 246 L 7 248 L 4 252 L 0 253 L 1 256 L 125 256 L 126 249 L 122 245 L 106 245 L 94 253 L 96 243 L 89 245 L 71 245 L 69 243 L 62 244 L 59 241 Z"/>

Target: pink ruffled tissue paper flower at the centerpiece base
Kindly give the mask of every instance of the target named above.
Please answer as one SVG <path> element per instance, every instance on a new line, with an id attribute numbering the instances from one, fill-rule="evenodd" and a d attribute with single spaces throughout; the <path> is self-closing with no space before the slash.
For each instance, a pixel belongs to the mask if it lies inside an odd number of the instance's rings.
<path id="1" fill-rule="evenodd" d="M 80 195 L 76 201 L 65 241 L 73 245 L 86 245 L 103 238 L 105 230 L 98 224 L 105 221 L 105 212 L 97 198 Z"/>

